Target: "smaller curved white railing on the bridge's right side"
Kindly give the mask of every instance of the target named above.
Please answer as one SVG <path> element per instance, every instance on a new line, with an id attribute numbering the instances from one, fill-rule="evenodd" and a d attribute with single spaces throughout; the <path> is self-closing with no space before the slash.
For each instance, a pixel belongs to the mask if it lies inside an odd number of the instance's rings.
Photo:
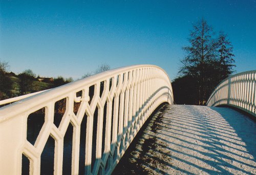
<path id="1" fill-rule="evenodd" d="M 232 75 L 215 88 L 207 106 L 229 105 L 256 117 L 256 70 Z"/>

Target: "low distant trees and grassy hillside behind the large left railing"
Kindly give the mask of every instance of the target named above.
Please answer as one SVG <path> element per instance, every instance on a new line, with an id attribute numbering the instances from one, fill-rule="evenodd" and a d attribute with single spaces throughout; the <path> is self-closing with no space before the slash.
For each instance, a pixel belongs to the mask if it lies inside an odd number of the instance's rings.
<path id="1" fill-rule="evenodd" d="M 73 81 L 72 77 L 63 78 L 62 76 L 58 76 L 57 78 L 53 78 L 52 81 L 46 78 L 40 83 L 38 82 L 39 75 L 36 77 L 36 74 L 31 69 L 27 69 L 17 75 L 9 72 L 9 69 L 8 62 L 0 61 L 0 100 L 56 88 Z M 99 65 L 94 72 L 83 75 L 82 78 L 107 70 L 110 70 L 110 65 L 104 63 Z"/>

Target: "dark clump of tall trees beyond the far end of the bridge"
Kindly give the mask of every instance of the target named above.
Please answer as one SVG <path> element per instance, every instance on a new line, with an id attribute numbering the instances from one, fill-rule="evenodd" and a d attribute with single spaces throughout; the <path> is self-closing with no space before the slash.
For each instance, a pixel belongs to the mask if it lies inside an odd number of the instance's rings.
<path id="1" fill-rule="evenodd" d="M 204 105 L 211 92 L 234 71 L 231 42 L 224 32 L 216 36 L 214 30 L 202 19 L 193 26 L 189 46 L 183 47 L 178 77 L 172 82 L 177 104 Z"/>

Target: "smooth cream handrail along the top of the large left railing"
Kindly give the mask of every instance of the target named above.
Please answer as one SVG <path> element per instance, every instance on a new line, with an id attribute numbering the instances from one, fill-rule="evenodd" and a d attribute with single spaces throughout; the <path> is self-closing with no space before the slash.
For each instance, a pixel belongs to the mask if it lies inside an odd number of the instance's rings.
<path id="1" fill-rule="evenodd" d="M 138 75 L 133 75 L 132 71 L 138 71 L 138 70 L 146 70 L 148 69 L 147 73 L 143 74 L 144 77 L 139 77 Z M 151 69 L 151 70 L 150 70 Z M 13 103 L 8 106 L 4 106 L 0 108 L 0 114 L 1 116 L 8 116 L 7 118 L 0 117 L 0 122 L 2 122 L 5 119 L 8 119 L 12 116 L 16 116 L 19 113 L 26 112 L 31 107 L 40 105 L 41 103 L 44 103 L 45 101 L 57 98 L 59 96 L 63 96 L 65 94 L 69 94 L 75 91 L 78 91 L 86 86 L 91 86 L 93 84 L 96 84 L 97 82 L 104 81 L 108 78 L 114 78 L 114 81 L 116 81 L 116 76 L 121 75 L 124 73 L 130 73 L 130 76 L 133 76 L 133 80 L 130 80 L 130 84 L 134 84 L 136 81 L 142 81 L 142 79 L 150 79 L 151 77 L 159 77 L 163 76 L 166 78 L 166 81 L 169 81 L 168 75 L 166 72 L 156 65 L 147 65 L 147 64 L 141 64 L 141 65 L 131 65 L 123 68 L 117 68 L 110 71 L 105 71 L 103 73 L 99 73 L 96 75 L 92 75 L 87 78 L 83 78 L 81 80 L 71 82 L 62 86 L 59 86 L 58 88 L 49 90 L 47 92 L 42 92 L 40 94 L 36 94 L 32 97 L 28 97 L 24 100 L 20 100 L 18 103 Z M 155 75 L 154 75 L 155 74 Z M 136 77 L 135 77 L 136 76 Z M 141 75 L 140 75 L 141 76 Z M 122 78 L 122 77 L 121 77 Z M 170 90 L 172 91 L 172 85 L 169 83 Z M 173 92 L 171 92 L 173 93 Z"/>

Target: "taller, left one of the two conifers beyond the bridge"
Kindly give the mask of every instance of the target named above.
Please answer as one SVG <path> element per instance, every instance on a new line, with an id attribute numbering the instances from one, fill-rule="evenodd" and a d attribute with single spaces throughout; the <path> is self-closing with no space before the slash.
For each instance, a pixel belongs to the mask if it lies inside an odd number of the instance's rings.
<path id="1" fill-rule="evenodd" d="M 191 76 L 197 80 L 196 89 L 199 103 L 206 100 L 208 93 L 207 84 L 214 73 L 212 63 L 216 59 L 217 42 L 213 37 L 214 32 L 204 19 L 193 27 L 190 33 L 190 46 L 184 47 L 185 58 L 181 61 L 183 66 L 180 69 L 182 76 Z"/>

